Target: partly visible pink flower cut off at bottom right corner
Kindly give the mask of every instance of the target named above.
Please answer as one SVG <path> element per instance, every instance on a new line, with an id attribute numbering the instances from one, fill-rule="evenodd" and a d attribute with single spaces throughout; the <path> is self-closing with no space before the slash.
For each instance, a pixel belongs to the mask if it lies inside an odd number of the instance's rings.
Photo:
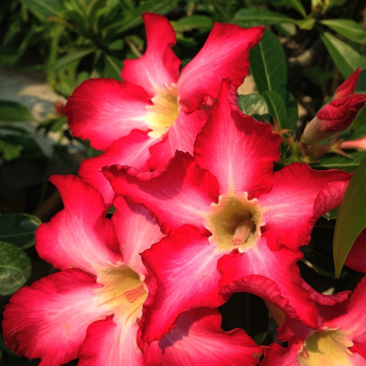
<path id="1" fill-rule="evenodd" d="M 366 365 L 365 303 L 363 277 L 346 303 L 322 307 L 321 331 L 286 318 L 277 338 L 288 347 L 273 343 L 261 366 Z"/>

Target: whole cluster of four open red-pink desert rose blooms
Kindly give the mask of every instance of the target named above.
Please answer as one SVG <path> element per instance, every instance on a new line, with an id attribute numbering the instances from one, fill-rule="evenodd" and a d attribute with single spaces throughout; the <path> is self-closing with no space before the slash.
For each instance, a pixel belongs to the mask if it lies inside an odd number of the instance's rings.
<path id="1" fill-rule="evenodd" d="M 143 20 L 146 52 L 125 61 L 124 81 L 90 79 L 67 102 L 74 135 L 104 153 L 81 178 L 51 177 L 64 209 L 36 249 L 60 272 L 12 296 L 5 343 L 44 366 L 366 365 L 366 280 L 323 295 L 296 264 L 350 174 L 273 172 L 280 135 L 238 107 L 263 27 L 216 23 L 179 72 L 168 20 Z M 337 97 L 359 103 L 345 89 Z M 347 259 L 361 271 L 364 241 Z M 287 347 L 220 328 L 217 307 L 235 292 L 266 300 Z"/>

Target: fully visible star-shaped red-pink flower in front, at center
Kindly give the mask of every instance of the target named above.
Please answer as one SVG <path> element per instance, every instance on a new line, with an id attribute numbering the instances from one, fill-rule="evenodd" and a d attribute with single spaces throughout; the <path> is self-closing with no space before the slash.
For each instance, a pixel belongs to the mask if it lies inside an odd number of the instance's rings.
<path id="1" fill-rule="evenodd" d="M 152 275 L 144 341 L 168 333 L 182 311 L 219 306 L 239 287 L 317 326 L 315 291 L 296 265 L 299 247 L 318 217 L 340 205 L 350 175 L 299 163 L 273 173 L 280 142 L 270 124 L 240 112 L 235 87 L 224 79 L 193 156 L 176 152 L 153 173 L 103 168 L 117 194 L 144 205 L 173 233 L 142 253 Z"/>

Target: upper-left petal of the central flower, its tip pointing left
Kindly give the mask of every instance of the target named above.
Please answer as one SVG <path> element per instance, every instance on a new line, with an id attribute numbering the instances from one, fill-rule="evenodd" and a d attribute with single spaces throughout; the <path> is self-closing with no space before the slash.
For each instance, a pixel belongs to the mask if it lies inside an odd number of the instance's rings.
<path id="1" fill-rule="evenodd" d="M 177 151 L 167 166 L 153 173 L 113 165 L 102 169 L 117 194 L 145 206 L 164 234 L 183 224 L 205 230 L 203 214 L 218 202 L 215 176 L 202 169 L 189 154 Z"/>

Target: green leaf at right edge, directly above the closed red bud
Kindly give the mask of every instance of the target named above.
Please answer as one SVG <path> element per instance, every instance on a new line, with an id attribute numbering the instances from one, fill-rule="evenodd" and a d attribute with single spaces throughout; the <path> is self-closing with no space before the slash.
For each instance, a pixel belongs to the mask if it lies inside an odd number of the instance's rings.
<path id="1" fill-rule="evenodd" d="M 347 43 L 329 32 L 321 33 L 320 38 L 344 78 L 348 78 L 358 67 L 366 68 L 366 57 L 360 55 Z"/>

